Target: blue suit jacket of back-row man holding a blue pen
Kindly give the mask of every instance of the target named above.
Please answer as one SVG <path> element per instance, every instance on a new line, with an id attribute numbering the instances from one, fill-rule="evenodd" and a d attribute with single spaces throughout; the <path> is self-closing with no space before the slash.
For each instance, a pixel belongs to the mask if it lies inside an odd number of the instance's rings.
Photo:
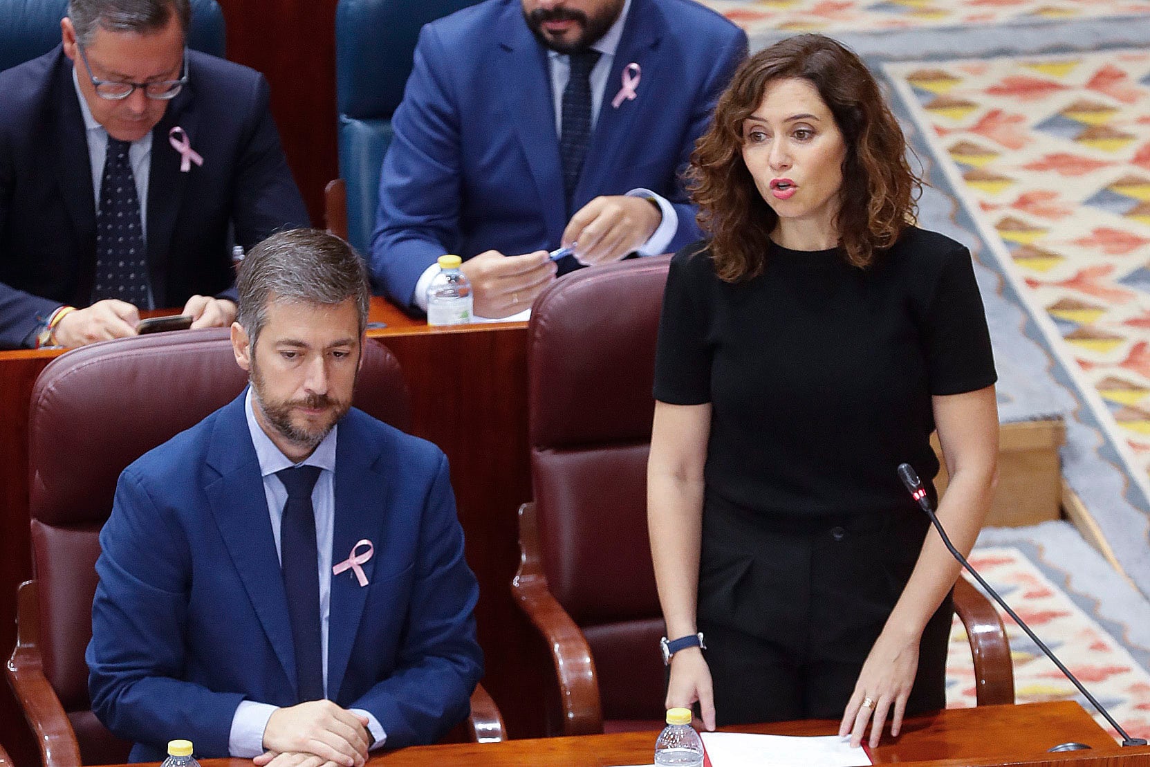
<path id="1" fill-rule="evenodd" d="M 699 238 L 678 172 L 746 53 L 746 36 L 692 0 L 631 0 L 574 209 L 646 187 L 675 204 L 669 250 Z M 637 97 L 612 99 L 628 63 Z M 559 246 L 568 215 L 545 48 L 519 0 L 428 24 L 392 118 L 371 243 L 378 289 L 407 306 L 444 253 L 518 255 Z"/>

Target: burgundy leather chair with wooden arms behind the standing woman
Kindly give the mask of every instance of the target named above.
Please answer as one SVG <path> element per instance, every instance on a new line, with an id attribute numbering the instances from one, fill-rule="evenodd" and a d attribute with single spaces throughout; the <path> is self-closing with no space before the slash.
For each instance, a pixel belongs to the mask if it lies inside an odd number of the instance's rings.
<path id="1" fill-rule="evenodd" d="M 662 727 L 664 634 L 646 526 L 654 348 L 669 256 L 575 273 L 528 330 L 535 499 L 519 511 L 516 603 L 545 639 L 564 735 Z M 960 580 L 979 704 L 1013 703 L 997 613 Z"/>

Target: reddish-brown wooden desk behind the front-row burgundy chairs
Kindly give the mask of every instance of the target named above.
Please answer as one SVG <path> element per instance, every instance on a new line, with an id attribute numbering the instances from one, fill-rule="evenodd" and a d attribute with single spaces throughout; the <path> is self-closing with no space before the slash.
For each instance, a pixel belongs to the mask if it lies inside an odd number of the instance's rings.
<path id="1" fill-rule="evenodd" d="M 412 431 L 451 461 L 467 560 L 480 582 L 476 608 L 488 688 L 516 737 L 544 735 L 551 661 L 511 598 L 519 563 L 516 509 L 531 497 L 527 443 L 527 324 L 431 329 L 374 299 L 369 330 L 396 354 L 411 390 Z M 16 586 L 31 577 L 28 524 L 28 402 L 60 350 L 0 352 L 0 652 L 15 643 Z M 524 670 L 527 673 L 524 673 Z M 7 684 L 0 683 L 0 743 L 18 765 L 36 751 Z"/>

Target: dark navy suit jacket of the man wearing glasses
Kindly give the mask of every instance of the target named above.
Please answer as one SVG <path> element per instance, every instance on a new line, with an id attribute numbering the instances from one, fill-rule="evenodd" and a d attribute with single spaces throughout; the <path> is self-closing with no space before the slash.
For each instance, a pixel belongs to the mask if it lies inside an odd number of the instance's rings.
<path id="1" fill-rule="evenodd" d="M 56 46 L 0 72 L 0 348 L 20 346 L 37 315 L 91 300 L 95 197 L 71 71 Z M 156 307 L 229 289 L 229 225 L 245 250 L 308 225 L 263 77 L 195 51 L 187 76 L 152 131 L 146 231 Z M 168 143 L 175 125 L 204 156 L 189 172 Z"/>

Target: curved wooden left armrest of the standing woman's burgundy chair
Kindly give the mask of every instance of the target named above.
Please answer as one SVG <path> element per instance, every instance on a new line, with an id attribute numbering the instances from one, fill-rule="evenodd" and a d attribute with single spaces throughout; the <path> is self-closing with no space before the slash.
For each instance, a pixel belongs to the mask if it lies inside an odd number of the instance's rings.
<path id="1" fill-rule="evenodd" d="M 583 631 L 547 588 L 547 577 L 539 561 L 534 503 L 519 507 L 519 570 L 511 582 L 511 591 L 551 652 L 559 682 L 564 735 L 603 733 L 603 707 L 591 647 Z"/>

